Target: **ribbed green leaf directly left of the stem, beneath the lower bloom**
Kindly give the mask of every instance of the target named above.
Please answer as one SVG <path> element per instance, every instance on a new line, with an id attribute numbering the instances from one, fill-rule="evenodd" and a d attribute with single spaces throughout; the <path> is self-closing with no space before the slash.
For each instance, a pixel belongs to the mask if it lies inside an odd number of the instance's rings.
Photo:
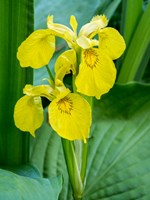
<path id="1" fill-rule="evenodd" d="M 45 177 L 57 175 L 63 176 L 63 188 L 59 199 L 72 200 L 72 190 L 69 184 L 68 172 L 63 154 L 60 137 L 47 123 L 47 111 L 45 111 L 45 123 L 37 130 L 36 139 L 33 138 L 31 163 Z"/>

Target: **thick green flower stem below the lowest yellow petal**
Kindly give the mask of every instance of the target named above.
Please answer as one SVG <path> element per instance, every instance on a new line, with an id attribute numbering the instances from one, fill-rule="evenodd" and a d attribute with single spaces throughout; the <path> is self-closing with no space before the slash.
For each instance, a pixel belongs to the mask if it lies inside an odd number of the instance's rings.
<path id="1" fill-rule="evenodd" d="M 82 199 L 83 184 L 80 177 L 80 170 L 78 167 L 73 142 L 62 138 L 62 146 L 64 150 L 70 182 L 74 192 L 74 199 Z"/>

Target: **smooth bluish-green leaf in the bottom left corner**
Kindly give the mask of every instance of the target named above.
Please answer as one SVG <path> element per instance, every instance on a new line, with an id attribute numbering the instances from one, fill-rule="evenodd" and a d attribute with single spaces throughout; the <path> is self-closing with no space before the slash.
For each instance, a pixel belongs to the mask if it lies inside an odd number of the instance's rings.
<path id="1" fill-rule="evenodd" d="M 0 169 L 0 199 L 57 200 L 61 182 L 61 177 L 33 179 Z"/>

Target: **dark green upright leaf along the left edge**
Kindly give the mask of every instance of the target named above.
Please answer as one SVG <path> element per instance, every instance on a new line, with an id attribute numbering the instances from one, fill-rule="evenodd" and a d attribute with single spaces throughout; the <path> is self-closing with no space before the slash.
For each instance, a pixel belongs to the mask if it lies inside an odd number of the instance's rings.
<path id="1" fill-rule="evenodd" d="M 32 82 L 32 71 L 21 69 L 16 53 L 33 30 L 33 1 L 1 0 L 0 16 L 0 164 L 16 165 L 29 160 L 29 137 L 15 127 L 13 110 Z"/>

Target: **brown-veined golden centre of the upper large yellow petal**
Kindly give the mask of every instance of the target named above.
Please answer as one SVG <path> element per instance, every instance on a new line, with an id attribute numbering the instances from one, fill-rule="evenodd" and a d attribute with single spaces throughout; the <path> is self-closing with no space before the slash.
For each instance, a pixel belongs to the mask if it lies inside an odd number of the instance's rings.
<path id="1" fill-rule="evenodd" d="M 84 51 L 84 60 L 88 67 L 93 69 L 98 62 L 98 55 L 94 49 L 87 49 Z"/>

